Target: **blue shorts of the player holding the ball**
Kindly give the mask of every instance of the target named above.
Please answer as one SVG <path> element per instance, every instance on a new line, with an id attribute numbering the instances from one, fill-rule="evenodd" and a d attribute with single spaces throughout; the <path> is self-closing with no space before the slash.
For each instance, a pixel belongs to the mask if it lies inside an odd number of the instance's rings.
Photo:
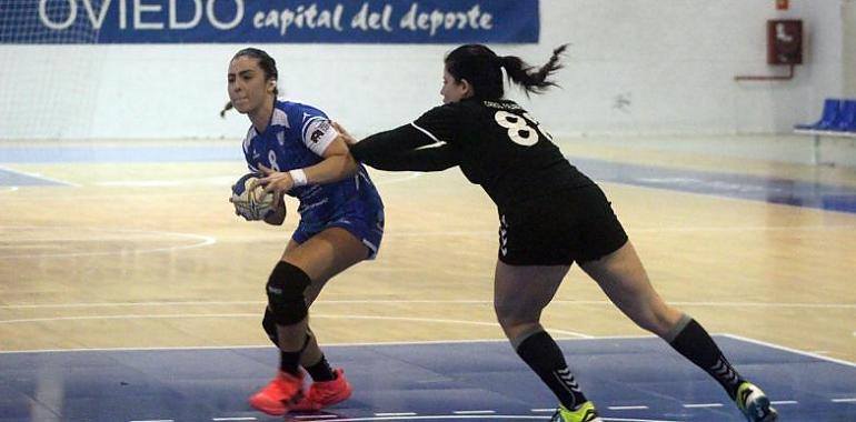
<path id="1" fill-rule="evenodd" d="M 354 198 L 337 204 L 332 212 L 321 214 L 312 210 L 305 211 L 291 239 L 297 243 L 303 243 L 326 229 L 341 228 L 366 245 L 369 251 L 366 259 L 375 259 L 380 249 L 380 241 L 384 239 L 384 203 L 380 202 L 377 193 Z"/>

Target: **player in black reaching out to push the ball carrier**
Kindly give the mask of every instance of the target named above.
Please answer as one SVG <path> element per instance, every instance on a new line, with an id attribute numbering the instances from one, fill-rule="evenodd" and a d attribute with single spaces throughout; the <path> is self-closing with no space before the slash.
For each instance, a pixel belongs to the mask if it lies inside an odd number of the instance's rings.
<path id="1" fill-rule="evenodd" d="M 502 69 L 527 94 L 540 93 L 556 86 L 550 77 L 561 68 L 564 50 L 536 68 L 485 46 L 461 46 L 445 59 L 444 105 L 359 142 L 345 133 L 350 152 L 380 170 L 458 165 L 494 200 L 496 314 L 519 356 L 558 398 L 554 421 L 600 421 L 539 322 L 574 262 L 621 312 L 719 382 L 748 421 L 776 420 L 764 392 L 737 373 L 707 331 L 657 294 L 600 188 L 568 162 L 532 115 L 504 98 Z"/>

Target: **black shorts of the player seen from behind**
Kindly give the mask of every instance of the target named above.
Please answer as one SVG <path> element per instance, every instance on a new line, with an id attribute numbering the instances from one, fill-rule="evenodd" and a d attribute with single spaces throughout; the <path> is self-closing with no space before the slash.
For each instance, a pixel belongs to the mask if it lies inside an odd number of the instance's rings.
<path id="1" fill-rule="evenodd" d="M 499 260 L 570 265 L 608 255 L 627 233 L 597 185 L 573 188 L 499 210 Z"/>

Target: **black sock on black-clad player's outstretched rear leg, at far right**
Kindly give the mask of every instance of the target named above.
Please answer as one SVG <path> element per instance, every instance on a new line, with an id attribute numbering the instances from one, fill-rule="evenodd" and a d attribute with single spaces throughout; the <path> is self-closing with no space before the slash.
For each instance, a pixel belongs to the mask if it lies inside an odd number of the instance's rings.
<path id="1" fill-rule="evenodd" d="M 731 400 L 737 396 L 737 386 L 745 380 L 728 363 L 714 339 L 696 320 L 689 320 L 669 344 L 719 382 Z"/>

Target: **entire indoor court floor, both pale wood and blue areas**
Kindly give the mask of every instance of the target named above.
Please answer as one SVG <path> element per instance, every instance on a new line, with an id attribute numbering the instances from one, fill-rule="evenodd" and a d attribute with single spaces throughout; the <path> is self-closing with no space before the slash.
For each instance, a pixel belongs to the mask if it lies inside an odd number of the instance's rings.
<path id="1" fill-rule="evenodd" d="M 560 145 L 783 421 L 856 421 L 856 169 L 807 164 L 792 137 Z M 0 143 L 0 422 L 276 420 L 246 398 L 275 370 L 262 285 L 296 215 L 233 215 L 241 160 L 238 141 Z M 487 197 L 458 170 L 372 177 L 380 255 L 312 309 L 356 391 L 293 418 L 548 419 L 494 321 Z M 544 322 L 607 421 L 741 420 L 576 268 Z"/>

